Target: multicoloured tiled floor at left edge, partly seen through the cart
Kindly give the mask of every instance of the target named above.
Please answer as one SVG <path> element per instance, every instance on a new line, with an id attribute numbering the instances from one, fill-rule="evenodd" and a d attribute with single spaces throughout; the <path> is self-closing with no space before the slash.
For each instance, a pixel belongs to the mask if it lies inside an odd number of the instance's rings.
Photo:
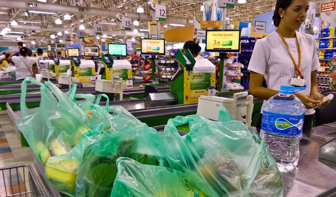
<path id="1" fill-rule="evenodd" d="M 21 146 L 19 136 L 14 129 L 8 114 L 0 111 L 0 196 L 29 190 L 27 168 L 25 168 L 25 172 L 23 168 L 1 169 L 9 166 L 33 164 L 32 150 L 29 147 Z M 25 186 L 24 180 L 28 185 Z"/>

